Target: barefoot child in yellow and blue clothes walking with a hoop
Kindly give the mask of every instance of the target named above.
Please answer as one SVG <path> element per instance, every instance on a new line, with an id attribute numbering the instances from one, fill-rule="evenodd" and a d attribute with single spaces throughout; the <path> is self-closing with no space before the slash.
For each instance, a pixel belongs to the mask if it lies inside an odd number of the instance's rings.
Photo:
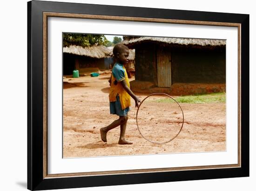
<path id="1" fill-rule="evenodd" d="M 128 47 L 122 44 L 117 44 L 113 48 L 113 54 L 116 63 L 113 66 L 111 80 L 109 81 L 110 114 L 118 115 L 119 119 L 115 120 L 107 127 L 102 127 L 100 129 L 101 140 L 107 142 L 108 131 L 120 125 L 120 138 L 118 144 L 132 144 L 132 142 L 129 142 L 124 138 L 128 120 L 128 111 L 130 110 L 129 106 L 131 105 L 130 96 L 135 100 L 135 107 L 139 106 L 141 100 L 135 96 L 130 89 L 127 72 L 124 67 L 124 65 L 128 63 Z"/>

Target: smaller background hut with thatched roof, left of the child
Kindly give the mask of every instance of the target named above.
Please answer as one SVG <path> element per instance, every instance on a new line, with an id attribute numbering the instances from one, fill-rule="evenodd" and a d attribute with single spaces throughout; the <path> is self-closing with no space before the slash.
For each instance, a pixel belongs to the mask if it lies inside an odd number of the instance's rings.
<path id="1" fill-rule="evenodd" d="M 109 54 L 109 49 L 104 46 L 63 47 L 63 74 L 70 75 L 73 70 L 79 70 L 80 73 L 108 70 Z"/>

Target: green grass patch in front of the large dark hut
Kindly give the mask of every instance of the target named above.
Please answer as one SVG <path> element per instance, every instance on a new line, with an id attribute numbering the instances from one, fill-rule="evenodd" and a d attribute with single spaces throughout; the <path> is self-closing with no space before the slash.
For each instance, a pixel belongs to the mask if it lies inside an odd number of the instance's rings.
<path id="1" fill-rule="evenodd" d="M 226 93 L 196 94 L 191 96 L 178 96 L 175 100 L 179 103 L 225 103 Z M 153 102 L 174 103 L 170 98 L 160 98 Z"/>

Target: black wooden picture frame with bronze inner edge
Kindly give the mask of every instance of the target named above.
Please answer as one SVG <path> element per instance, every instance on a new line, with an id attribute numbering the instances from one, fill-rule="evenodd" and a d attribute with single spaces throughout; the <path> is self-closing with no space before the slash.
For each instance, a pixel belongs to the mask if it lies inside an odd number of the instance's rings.
<path id="1" fill-rule="evenodd" d="M 249 15 L 50 1 L 27 3 L 27 188 L 48 190 L 249 176 Z M 48 174 L 47 18 L 238 28 L 238 163 L 217 166 Z"/>

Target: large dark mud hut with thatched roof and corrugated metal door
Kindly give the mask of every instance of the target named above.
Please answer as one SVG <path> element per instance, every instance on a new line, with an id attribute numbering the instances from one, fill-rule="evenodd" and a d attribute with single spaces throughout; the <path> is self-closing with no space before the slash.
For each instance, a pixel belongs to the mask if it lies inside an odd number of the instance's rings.
<path id="1" fill-rule="evenodd" d="M 225 40 L 123 38 L 122 44 L 135 49 L 132 89 L 174 95 L 225 91 Z"/>

